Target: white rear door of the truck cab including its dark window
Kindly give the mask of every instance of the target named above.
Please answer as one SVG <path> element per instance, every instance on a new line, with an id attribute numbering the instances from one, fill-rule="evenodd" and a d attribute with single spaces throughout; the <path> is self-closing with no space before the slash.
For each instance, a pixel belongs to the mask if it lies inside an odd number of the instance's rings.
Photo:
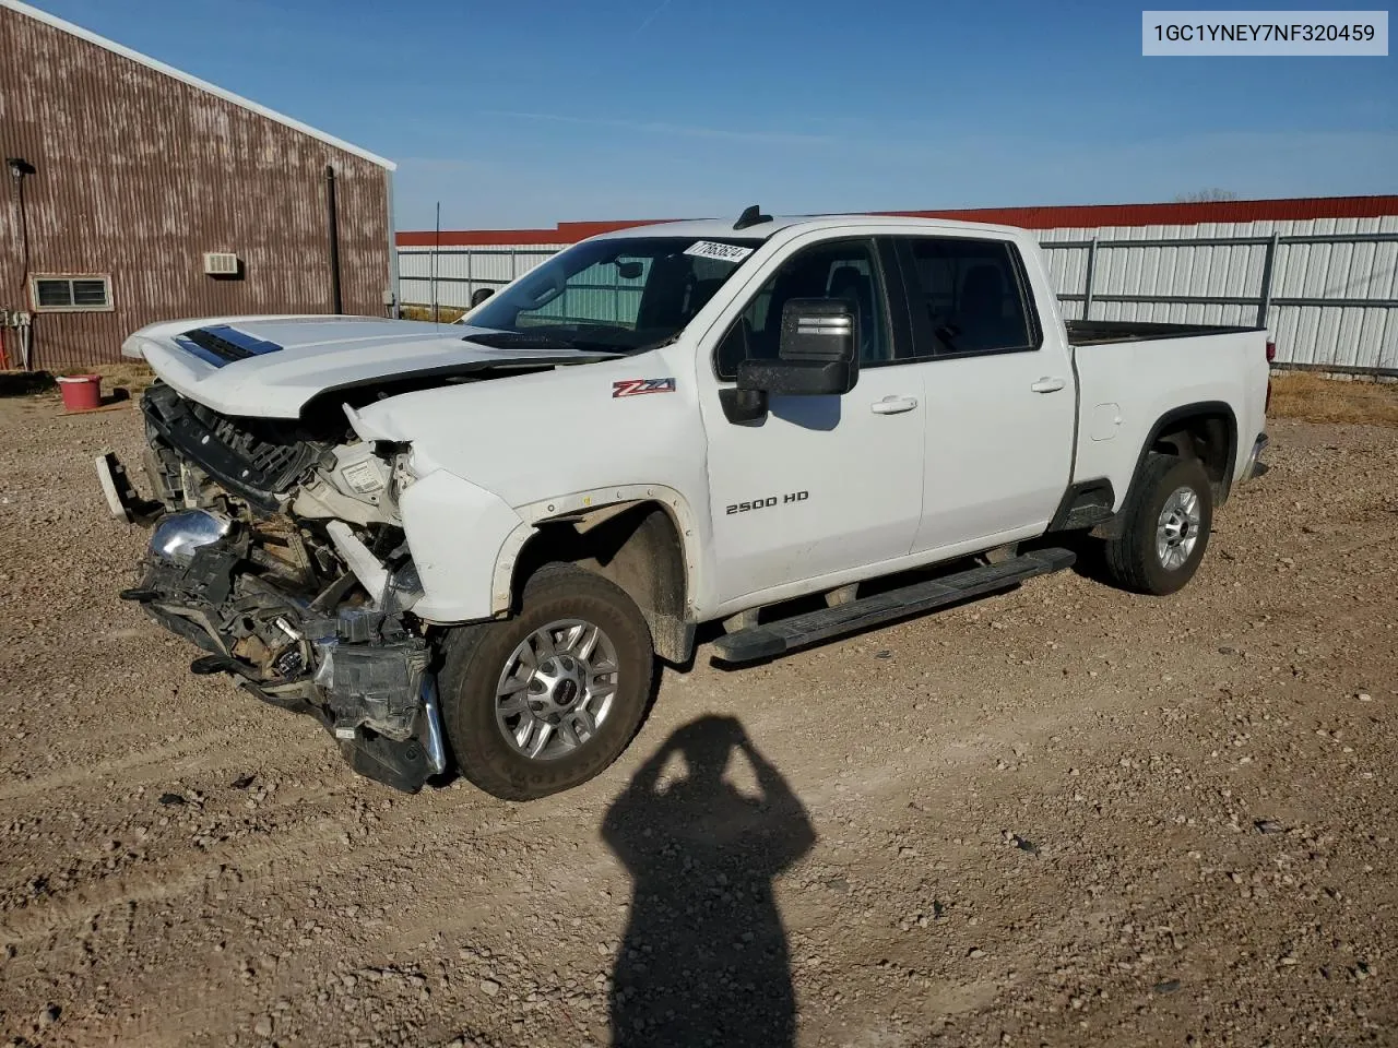
<path id="1" fill-rule="evenodd" d="M 905 236 L 896 249 L 914 352 L 928 363 L 913 552 L 956 555 L 1042 534 L 1069 479 L 1075 398 L 1067 347 L 1040 330 L 1018 246 Z"/>

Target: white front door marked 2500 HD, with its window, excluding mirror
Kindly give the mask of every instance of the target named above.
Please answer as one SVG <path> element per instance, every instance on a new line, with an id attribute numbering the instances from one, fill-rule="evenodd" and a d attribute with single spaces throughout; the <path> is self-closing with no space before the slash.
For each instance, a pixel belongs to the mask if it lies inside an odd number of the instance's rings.
<path id="1" fill-rule="evenodd" d="M 818 580 L 839 585 L 842 574 L 911 549 L 923 511 L 925 395 L 902 299 L 891 309 L 891 261 L 871 238 L 800 249 L 719 344 L 717 381 L 706 384 L 702 411 L 720 604 L 755 594 L 783 599 L 822 588 Z M 797 298 L 854 306 L 854 388 L 773 395 L 765 419 L 730 422 L 720 390 L 733 386 L 740 361 L 776 358 L 783 306 Z"/>

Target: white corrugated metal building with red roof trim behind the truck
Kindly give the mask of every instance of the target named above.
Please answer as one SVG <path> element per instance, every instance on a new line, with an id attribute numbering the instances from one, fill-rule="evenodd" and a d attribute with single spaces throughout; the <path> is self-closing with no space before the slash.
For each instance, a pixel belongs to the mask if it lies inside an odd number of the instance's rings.
<path id="1" fill-rule="evenodd" d="M 1278 363 L 1398 376 L 1398 196 L 902 211 L 1040 231 L 1069 317 L 1255 324 Z M 398 235 L 403 300 L 464 306 L 640 222 Z"/>

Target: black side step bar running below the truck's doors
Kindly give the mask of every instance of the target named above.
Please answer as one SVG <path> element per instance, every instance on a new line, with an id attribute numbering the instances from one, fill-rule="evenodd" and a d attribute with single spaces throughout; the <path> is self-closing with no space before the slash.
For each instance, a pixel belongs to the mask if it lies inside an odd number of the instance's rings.
<path id="1" fill-rule="evenodd" d="M 998 565 L 972 567 L 966 572 L 905 585 L 874 597 L 822 611 L 794 615 L 790 619 L 749 626 L 714 641 L 724 662 L 756 662 L 807 647 L 830 637 L 857 633 L 895 619 L 932 611 L 967 597 L 1008 590 L 1025 578 L 1072 567 L 1076 555 L 1068 549 L 1036 549 Z"/>

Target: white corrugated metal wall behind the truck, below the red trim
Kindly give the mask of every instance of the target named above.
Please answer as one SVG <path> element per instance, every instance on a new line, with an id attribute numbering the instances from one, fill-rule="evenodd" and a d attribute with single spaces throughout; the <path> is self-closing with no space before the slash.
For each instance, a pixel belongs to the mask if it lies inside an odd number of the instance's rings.
<path id="1" fill-rule="evenodd" d="M 1046 229 L 1040 243 L 1069 317 L 1255 324 L 1276 340 L 1279 367 L 1398 377 L 1398 218 L 1369 224 L 1241 236 L 1118 226 L 1085 239 Z M 401 247 L 400 299 L 464 307 L 566 246 Z"/>

